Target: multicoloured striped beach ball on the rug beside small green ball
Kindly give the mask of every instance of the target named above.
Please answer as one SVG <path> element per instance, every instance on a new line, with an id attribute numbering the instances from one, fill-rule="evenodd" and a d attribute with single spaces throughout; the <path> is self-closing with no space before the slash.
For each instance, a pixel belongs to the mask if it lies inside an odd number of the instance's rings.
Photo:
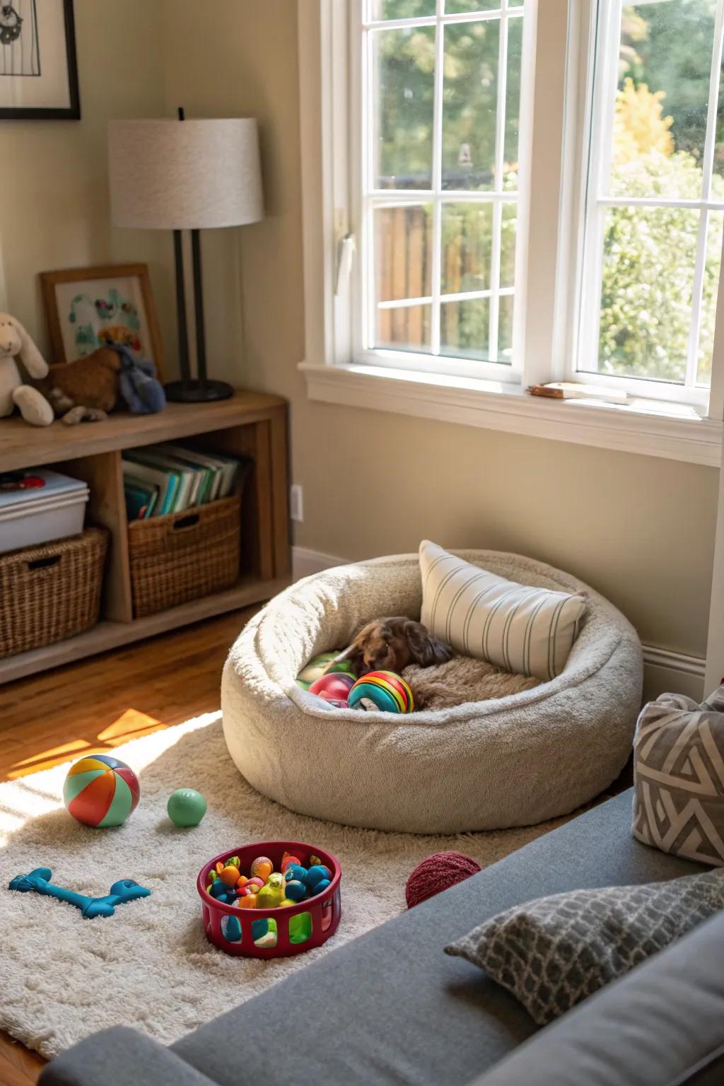
<path id="1" fill-rule="evenodd" d="M 72 766 L 63 785 L 68 813 L 84 825 L 123 825 L 141 796 L 130 767 L 107 754 L 91 754 Z"/>

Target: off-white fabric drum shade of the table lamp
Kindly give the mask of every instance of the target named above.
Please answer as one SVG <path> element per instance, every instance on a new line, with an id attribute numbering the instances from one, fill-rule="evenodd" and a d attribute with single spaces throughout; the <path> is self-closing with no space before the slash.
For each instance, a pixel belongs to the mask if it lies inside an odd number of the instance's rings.
<path id="1" fill-rule="evenodd" d="M 256 121 L 112 121 L 116 226 L 192 230 L 264 217 Z"/>

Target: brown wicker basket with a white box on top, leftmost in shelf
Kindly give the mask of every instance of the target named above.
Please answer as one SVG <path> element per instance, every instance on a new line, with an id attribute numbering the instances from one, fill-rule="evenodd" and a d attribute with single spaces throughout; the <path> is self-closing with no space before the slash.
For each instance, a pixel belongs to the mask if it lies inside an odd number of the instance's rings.
<path id="1" fill-rule="evenodd" d="M 0 555 L 0 657 L 73 637 L 98 622 L 109 535 L 80 535 Z"/>

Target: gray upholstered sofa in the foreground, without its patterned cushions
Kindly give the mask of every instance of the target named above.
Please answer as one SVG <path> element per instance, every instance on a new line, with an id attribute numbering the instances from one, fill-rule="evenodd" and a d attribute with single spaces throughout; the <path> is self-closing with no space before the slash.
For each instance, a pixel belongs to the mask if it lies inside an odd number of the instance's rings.
<path id="1" fill-rule="evenodd" d="M 538 1031 L 443 952 L 512 905 L 690 874 L 631 836 L 631 792 L 300 970 L 167 1049 L 125 1028 L 42 1086 L 713 1086 L 724 1083 L 724 914 Z M 233 1058 L 229 1058 L 233 1053 Z"/>

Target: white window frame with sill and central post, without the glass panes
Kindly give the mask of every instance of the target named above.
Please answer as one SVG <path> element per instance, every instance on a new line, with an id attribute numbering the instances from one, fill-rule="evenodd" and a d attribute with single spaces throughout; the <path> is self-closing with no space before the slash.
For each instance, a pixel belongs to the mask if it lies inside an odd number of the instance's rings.
<path id="1" fill-rule="evenodd" d="M 309 397 L 719 466 L 724 289 L 708 415 L 681 397 L 657 403 L 650 393 L 621 407 L 550 403 L 525 394 L 532 383 L 573 376 L 584 225 L 582 143 L 589 135 L 585 118 L 590 116 L 597 0 L 525 0 L 523 50 L 531 60 L 521 86 L 512 366 L 463 362 L 441 371 L 437 357 L 427 354 L 403 359 L 403 352 L 365 350 L 353 304 L 365 289 L 358 258 L 348 279 L 338 282 L 343 239 L 360 231 L 360 140 L 350 138 L 359 130 L 353 118 L 363 115 L 355 92 L 360 51 L 350 48 L 348 14 L 359 10 L 358 3 L 297 0 L 306 314 L 301 369 Z M 583 378 L 575 374 L 576 380 Z M 605 383 L 602 375 L 590 379 Z M 642 383 L 648 393 L 650 382 Z"/>

